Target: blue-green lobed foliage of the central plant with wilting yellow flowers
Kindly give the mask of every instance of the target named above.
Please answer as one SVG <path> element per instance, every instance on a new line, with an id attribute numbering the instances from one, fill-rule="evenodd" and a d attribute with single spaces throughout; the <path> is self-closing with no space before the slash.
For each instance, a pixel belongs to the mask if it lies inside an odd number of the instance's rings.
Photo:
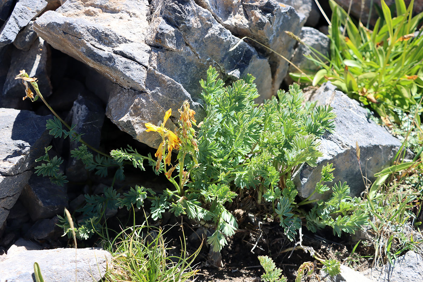
<path id="1" fill-rule="evenodd" d="M 207 241 L 214 251 L 220 251 L 226 244 L 225 237 L 233 235 L 238 228 L 226 204 L 236 199 L 240 189 L 255 189 L 258 202 L 264 199 L 271 203 L 275 217 L 290 240 L 294 240 L 302 225 L 300 216 L 305 216 L 306 226 L 312 231 L 329 225 L 338 235 L 341 231 L 354 233 L 367 217 L 354 212 L 358 201 L 348 196 L 346 184 L 335 185 L 327 202 L 305 199 L 296 203 L 297 189 L 291 180 L 291 175 L 302 163 L 316 166 L 317 158 L 321 156 L 319 138 L 335 127 L 332 108 L 315 107 L 313 103 L 304 102 L 302 91 L 296 84 L 290 86 L 288 92 L 278 91 L 277 97 L 257 105 L 255 99 L 259 95 L 253 81 L 254 77 L 247 75 L 243 80 L 224 87 L 216 70 L 210 67 L 206 80 L 200 82 L 206 118 L 198 127 L 199 151 L 187 154 L 184 161 L 183 169 L 190 175 L 187 187 L 182 187 L 182 192 L 168 188 L 162 194 L 156 194 L 151 189 L 136 186 L 123 196 L 110 187 L 102 195 L 87 195 L 86 205 L 78 210 L 83 213 L 83 220 L 75 224 L 78 236 L 88 238 L 100 230 L 106 210 L 140 208 L 148 199 L 154 220 L 162 218 L 162 213 L 168 210 L 176 216 L 185 214 L 196 221 L 209 222 L 215 230 Z M 51 134 L 56 137 L 78 136 L 63 130 L 59 123 L 58 120 L 48 123 Z M 80 137 L 75 138 L 80 140 Z M 71 155 L 102 177 L 111 167 L 116 167 L 116 180 L 124 178 L 124 163 L 128 161 L 141 170 L 144 170 L 145 160 L 157 174 L 164 170 L 161 163 L 156 171 L 156 161 L 151 155 L 140 155 L 131 147 L 113 150 L 111 158 L 100 155 L 94 158 L 82 144 L 72 150 Z M 47 161 L 45 166 L 49 168 L 40 168 L 38 173 L 66 181 L 58 173 L 60 159 L 49 160 L 46 151 L 42 160 Z M 330 190 L 323 182 L 333 180 L 331 171 L 331 164 L 324 166 L 314 193 Z M 310 212 L 300 208 L 309 202 L 317 203 Z M 66 219 L 60 217 L 60 220 L 65 232 L 69 232 Z"/>

